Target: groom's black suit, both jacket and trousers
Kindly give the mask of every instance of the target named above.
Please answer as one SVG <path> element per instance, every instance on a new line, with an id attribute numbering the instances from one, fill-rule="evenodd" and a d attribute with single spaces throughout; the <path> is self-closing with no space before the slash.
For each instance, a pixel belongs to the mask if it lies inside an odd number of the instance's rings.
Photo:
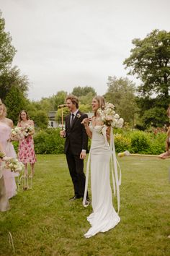
<path id="1" fill-rule="evenodd" d="M 66 116 L 66 153 L 68 168 L 73 182 L 76 197 L 84 196 L 86 177 L 84 175 L 84 160 L 80 159 L 81 150 L 87 150 L 88 136 L 81 121 L 88 117 L 86 114 L 77 112 L 71 126 L 71 114 Z"/>

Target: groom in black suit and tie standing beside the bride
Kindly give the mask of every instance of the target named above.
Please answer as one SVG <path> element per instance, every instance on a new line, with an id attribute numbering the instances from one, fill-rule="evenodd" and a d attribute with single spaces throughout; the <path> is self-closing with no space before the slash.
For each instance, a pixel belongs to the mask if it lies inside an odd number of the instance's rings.
<path id="1" fill-rule="evenodd" d="M 68 169 L 73 182 L 74 195 L 70 198 L 70 201 L 73 201 L 84 197 L 86 181 L 84 159 L 86 158 L 88 136 L 81 121 L 88 116 L 79 111 L 79 99 L 74 95 L 66 97 L 66 106 L 70 114 L 66 116 L 66 130 L 61 131 L 61 137 L 66 137 L 64 153 L 66 153 Z M 87 197 L 85 206 L 88 205 Z"/>

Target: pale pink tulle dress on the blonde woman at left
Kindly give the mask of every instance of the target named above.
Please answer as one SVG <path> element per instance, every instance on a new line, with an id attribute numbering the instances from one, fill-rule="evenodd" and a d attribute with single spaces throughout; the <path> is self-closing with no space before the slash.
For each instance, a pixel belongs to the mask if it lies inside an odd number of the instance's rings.
<path id="1" fill-rule="evenodd" d="M 4 122 L 0 121 L 0 142 L 2 147 L 4 148 L 4 152 L 6 153 L 6 156 L 16 158 L 17 155 L 15 153 L 14 146 L 11 142 L 7 142 L 7 140 L 10 137 L 10 134 L 11 127 L 9 127 Z M 3 176 L 7 197 L 14 197 L 14 195 L 17 195 L 17 185 L 14 178 L 17 175 L 14 174 L 11 170 L 4 168 Z"/>

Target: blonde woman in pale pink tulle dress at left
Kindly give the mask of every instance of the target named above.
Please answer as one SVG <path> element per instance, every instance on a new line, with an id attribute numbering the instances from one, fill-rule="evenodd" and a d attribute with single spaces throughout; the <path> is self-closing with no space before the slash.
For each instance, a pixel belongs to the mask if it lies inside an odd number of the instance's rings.
<path id="1" fill-rule="evenodd" d="M 13 127 L 13 121 L 6 118 L 6 107 L 0 99 L 0 143 L 4 148 L 6 156 L 17 158 L 14 146 L 12 145 L 12 142 L 9 141 Z M 12 198 L 14 195 L 17 195 L 17 185 L 14 178 L 16 174 L 12 173 L 9 169 L 3 169 L 3 176 L 6 195 L 8 198 Z"/>

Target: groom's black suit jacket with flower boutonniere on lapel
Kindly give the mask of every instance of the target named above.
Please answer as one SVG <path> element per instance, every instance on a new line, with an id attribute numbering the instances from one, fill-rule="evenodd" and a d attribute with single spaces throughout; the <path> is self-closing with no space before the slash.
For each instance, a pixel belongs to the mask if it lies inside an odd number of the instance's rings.
<path id="1" fill-rule="evenodd" d="M 84 118 L 88 117 L 87 114 L 78 111 L 71 127 L 71 114 L 66 116 L 66 142 L 64 153 L 67 152 L 68 147 L 71 148 L 75 155 L 80 155 L 81 150 L 87 150 L 88 136 L 84 124 L 81 124 Z"/>

